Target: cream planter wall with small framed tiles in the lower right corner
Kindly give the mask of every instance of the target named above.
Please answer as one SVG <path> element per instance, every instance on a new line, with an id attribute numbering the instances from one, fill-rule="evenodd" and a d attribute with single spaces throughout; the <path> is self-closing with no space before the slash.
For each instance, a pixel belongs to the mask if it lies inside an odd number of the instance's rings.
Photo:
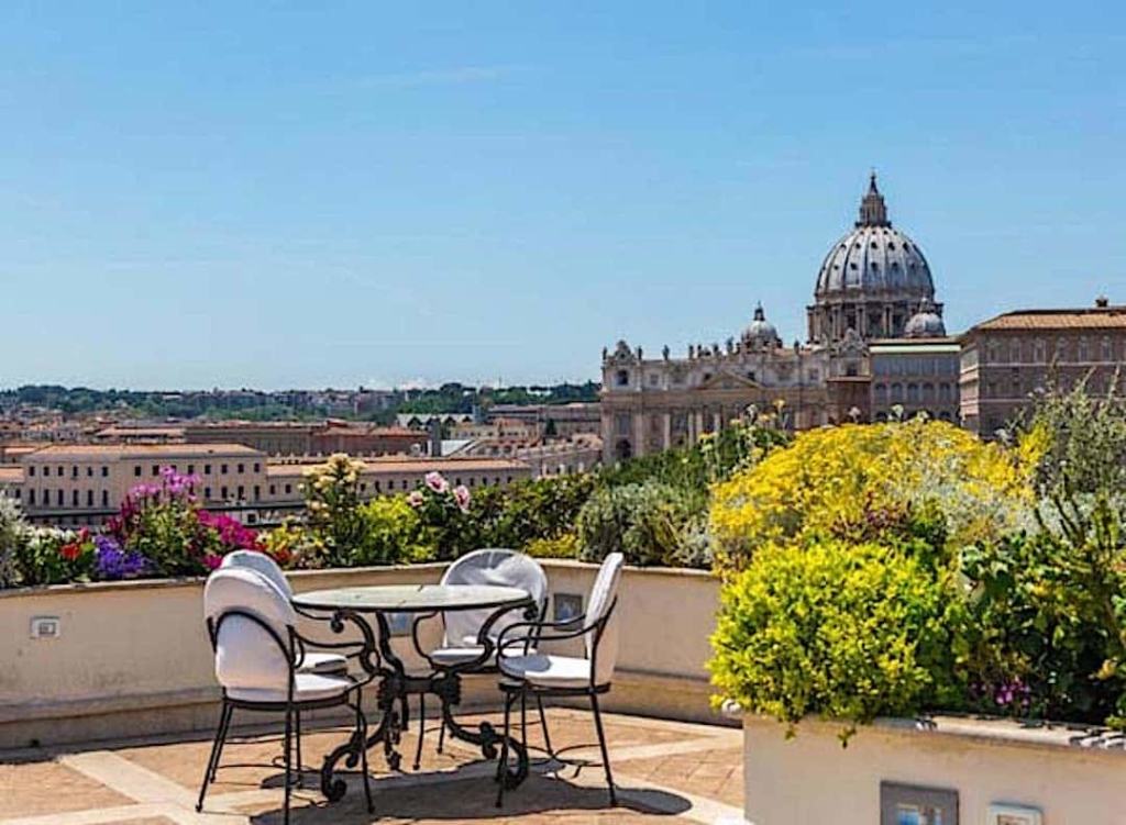
<path id="1" fill-rule="evenodd" d="M 751 825 L 901 822 L 882 818 L 883 782 L 955 791 L 960 825 L 1126 823 L 1124 739 L 1102 728 L 878 719 L 847 747 L 838 738 L 842 725 L 816 719 L 799 724 L 793 738 L 769 719 L 748 717 L 743 728 Z M 998 810 L 1025 818 L 997 818 Z M 947 813 L 942 825 L 953 823 Z"/>

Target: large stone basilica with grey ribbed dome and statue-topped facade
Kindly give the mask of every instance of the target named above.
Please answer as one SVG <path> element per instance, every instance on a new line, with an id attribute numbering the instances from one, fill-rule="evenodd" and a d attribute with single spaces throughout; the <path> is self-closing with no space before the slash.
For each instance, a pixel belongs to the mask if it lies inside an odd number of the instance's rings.
<path id="1" fill-rule="evenodd" d="M 690 344 L 685 356 L 664 347 L 659 357 L 646 357 L 626 341 L 604 350 L 605 459 L 692 443 L 752 405 L 778 411 L 784 427 L 801 430 L 885 416 L 914 387 L 912 411 L 956 413 L 957 377 L 951 384 L 939 376 L 956 373 L 957 346 L 946 335 L 927 259 L 892 226 L 875 173 L 858 219 L 817 271 L 806 317 L 806 341 L 793 346 L 784 344 L 759 305 L 738 335 L 722 344 Z M 875 376 L 874 351 L 896 356 L 877 355 Z M 911 380 L 884 375 L 914 365 L 921 375 Z"/>

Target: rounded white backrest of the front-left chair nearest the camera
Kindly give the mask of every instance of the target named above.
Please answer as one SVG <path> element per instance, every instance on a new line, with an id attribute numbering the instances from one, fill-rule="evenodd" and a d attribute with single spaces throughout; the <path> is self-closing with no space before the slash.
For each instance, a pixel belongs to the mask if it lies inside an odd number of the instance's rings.
<path id="1" fill-rule="evenodd" d="M 262 624 L 245 616 L 227 616 L 232 611 L 251 613 Z M 215 624 L 215 678 L 220 684 L 288 688 L 293 662 L 289 628 L 296 615 L 277 585 L 252 570 L 221 567 L 204 588 L 204 615 Z"/>

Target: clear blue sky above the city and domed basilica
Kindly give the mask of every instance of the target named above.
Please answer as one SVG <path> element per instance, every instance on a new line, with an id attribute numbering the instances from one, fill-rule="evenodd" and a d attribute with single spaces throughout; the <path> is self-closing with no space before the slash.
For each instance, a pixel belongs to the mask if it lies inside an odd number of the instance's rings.
<path id="1" fill-rule="evenodd" d="M 1126 303 L 1126 11 L 6 2 L 0 386 L 586 379 L 804 338 L 875 167 L 947 326 Z"/>

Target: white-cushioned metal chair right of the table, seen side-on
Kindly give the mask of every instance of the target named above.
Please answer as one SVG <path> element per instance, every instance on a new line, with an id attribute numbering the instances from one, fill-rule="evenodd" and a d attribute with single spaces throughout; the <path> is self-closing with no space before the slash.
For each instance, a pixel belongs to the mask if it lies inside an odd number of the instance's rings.
<path id="1" fill-rule="evenodd" d="M 542 697 L 588 697 L 595 714 L 598 746 L 602 752 L 611 805 L 617 805 L 617 793 L 614 790 L 610 755 L 606 746 L 598 697 L 609 691 L 618 656 L 618 622 L 614 609 L 617 606 L 618 582 L 624 562 L 620 553 L 611 553 L 602 562 L 587 600 L 586 613 L 568 621 L 510 625 L 501 635 L 497 656 L 502 675 L 500 689 L 504 693 L 504 738 L 499 769 L 503 771 L 508 763 L 511 712 L 517 699 L 520 700 L 521 737 L 526 737 L 522 727 L 529 694 L 537 700 Z M 548 629 L 551 631 L 545 633 Z M 540 644 L 577 638 L 582 638 L 586 656 L 525 652 L 533 642 Z M 512 653 L 509 654 L 509 651 Z M 501 781 L 497 805 L 500 806 L 503 799 L 504 782 Z"/>

